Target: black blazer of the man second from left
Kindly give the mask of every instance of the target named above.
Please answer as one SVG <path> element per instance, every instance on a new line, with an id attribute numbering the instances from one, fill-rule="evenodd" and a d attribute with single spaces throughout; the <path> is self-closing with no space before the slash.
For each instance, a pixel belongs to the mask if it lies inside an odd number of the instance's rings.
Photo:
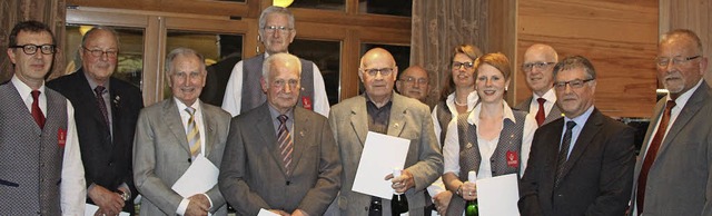
<path id="1" fill-rule="evenodd" d="M 49 81 L 47 87 L 59 91 L 75 105 L 75 120 L 87 187 L 96 184 L 116 192 L 126 183 L 131 188 L 131 195 L 136 197 L 138 192 L 134 187 L 131 148 L 138 114 L 144 107 L 141 91 L 120 79 L 109 79 L 110 106 L 107 108 L 111 109 L 111 137 L 82 69 Z M 127 202 L 125 210 L 134 213 L 134 197 Z M 87 202 L 92 203 L 88 196 Z"/>

